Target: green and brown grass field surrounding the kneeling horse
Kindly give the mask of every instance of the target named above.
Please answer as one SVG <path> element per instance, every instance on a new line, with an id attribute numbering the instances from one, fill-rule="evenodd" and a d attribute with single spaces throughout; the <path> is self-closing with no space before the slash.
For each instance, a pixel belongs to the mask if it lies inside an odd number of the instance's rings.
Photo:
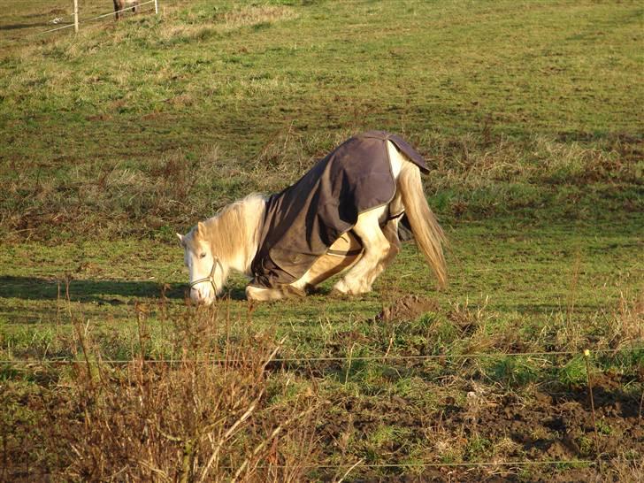
<path id="1" fill-rule="evenodd" d="M 640 3 L 160 4 L 0 0 L 0 480 L 644 478 Z M 410 243 L 369 295 L 185 302 L 175 232 L 373 128 L 449 288 Z"/>

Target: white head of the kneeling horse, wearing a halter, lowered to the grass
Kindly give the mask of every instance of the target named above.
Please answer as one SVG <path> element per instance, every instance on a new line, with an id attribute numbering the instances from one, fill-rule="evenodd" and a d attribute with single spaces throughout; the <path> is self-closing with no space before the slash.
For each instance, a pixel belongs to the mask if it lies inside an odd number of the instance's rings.
<path id="1" fill-rule="evenodd" d="M 221 294 L 226 271 L 219 258 L 212 253 L 208 229 L 199 222 L 190 233 L 177 234 L 184 249 L 184 263 L 190 273 L 190 298 L 210 305 Z"/>

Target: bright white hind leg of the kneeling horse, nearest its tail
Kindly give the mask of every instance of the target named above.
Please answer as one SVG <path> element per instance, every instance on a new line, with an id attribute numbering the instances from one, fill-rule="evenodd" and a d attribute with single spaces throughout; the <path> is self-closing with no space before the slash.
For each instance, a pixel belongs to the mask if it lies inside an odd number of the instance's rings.
<path id="1" fill-rule="evenodd" d="M 366 211 L 358 219 L 353 232 L 360 237 L 364 253 L 334 288 L 343 294 L 358 295 L 371 291 L 373 280 L 380 275 L 388 260 L 395 257 L 396 249 L 382 233 L 379 218 L 382 209 Z"/>

